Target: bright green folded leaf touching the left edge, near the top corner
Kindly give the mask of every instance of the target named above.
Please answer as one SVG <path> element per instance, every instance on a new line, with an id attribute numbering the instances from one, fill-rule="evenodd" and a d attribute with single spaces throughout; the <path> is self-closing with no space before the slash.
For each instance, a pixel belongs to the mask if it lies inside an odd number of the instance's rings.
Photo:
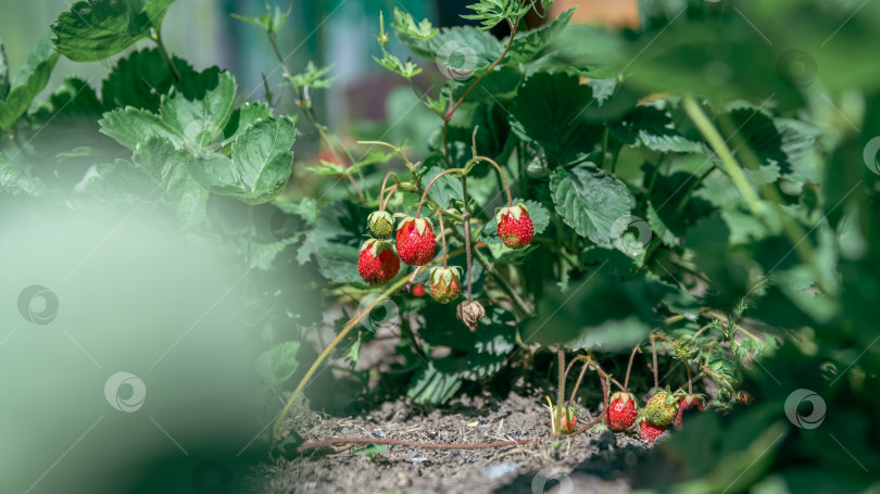
<path id="1" fill-rule="evenodd" d="M 0 64 L 5 67 L 5 55 L 2 59 Z M 0 101 L 0 128 L 10 127 L 27 111 L 34 98 L 49 83 L 49 76 L 56 61 L 58 53 L 52 41 L 48 36 L 41 38 L 30 50 L 25 63 L 5 84 L 9 92 L 4 94 L 5 99 Z M 0 79 L 5 79 L 5 77 L 0 77 Z M 0 85 L 3 85 L 2 81 Z"/>

